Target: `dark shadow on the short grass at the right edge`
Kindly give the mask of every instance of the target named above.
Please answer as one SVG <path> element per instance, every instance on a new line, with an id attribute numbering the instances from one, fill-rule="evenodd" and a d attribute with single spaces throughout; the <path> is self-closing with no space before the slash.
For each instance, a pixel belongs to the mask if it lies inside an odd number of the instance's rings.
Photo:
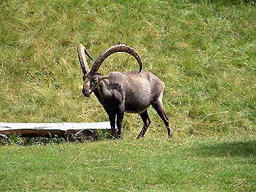
<path id="1" fill-rule="evenodd" d="M 222 142 L 201 146 L 196 151 L 203 156 L 242 156 L 256 159 L 256 140 L 248 142 Z"/>

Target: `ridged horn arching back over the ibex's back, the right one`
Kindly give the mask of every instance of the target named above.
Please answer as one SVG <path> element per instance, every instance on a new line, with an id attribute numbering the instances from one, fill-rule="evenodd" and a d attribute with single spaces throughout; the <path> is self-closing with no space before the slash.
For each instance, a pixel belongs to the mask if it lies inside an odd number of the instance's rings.
<path id="1" fill-rule="evenodd" d="M 139 63 L 139 72 L 138 73 L 140 73 L 142 71 L 142 58 L 139 56 L 139 53 L 137 53 L 137 51 L 134 50 L 134 48 L 120 44 L 120 45 L 112 46 L 112 47 L 104 50 L 100 54 L 100 57 L 92 65 L 92 70 L 91 70 L 92 73 L 97 73 L 97 71 L 99 70 L 100 65 L 103 63 L 103 61 L 108 56 L 112 55 L 113 53 L 117 53 L 117 52 L 125 52 L 125 53 L 129 53 L 130 55 L 134 56 L 134 58 Z"/>

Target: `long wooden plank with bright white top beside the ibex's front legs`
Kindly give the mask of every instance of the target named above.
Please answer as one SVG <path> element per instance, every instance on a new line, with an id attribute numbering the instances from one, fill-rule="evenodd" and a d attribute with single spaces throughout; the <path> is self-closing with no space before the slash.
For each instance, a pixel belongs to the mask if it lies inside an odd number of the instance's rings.
<path id="1" fill-rule="evenodd" d="M 21 137 L 49 137 L 75 134 L 81 130 L 111 129 L 110 122 L 8 123 L 0 122 L 0 134 Z"/>

